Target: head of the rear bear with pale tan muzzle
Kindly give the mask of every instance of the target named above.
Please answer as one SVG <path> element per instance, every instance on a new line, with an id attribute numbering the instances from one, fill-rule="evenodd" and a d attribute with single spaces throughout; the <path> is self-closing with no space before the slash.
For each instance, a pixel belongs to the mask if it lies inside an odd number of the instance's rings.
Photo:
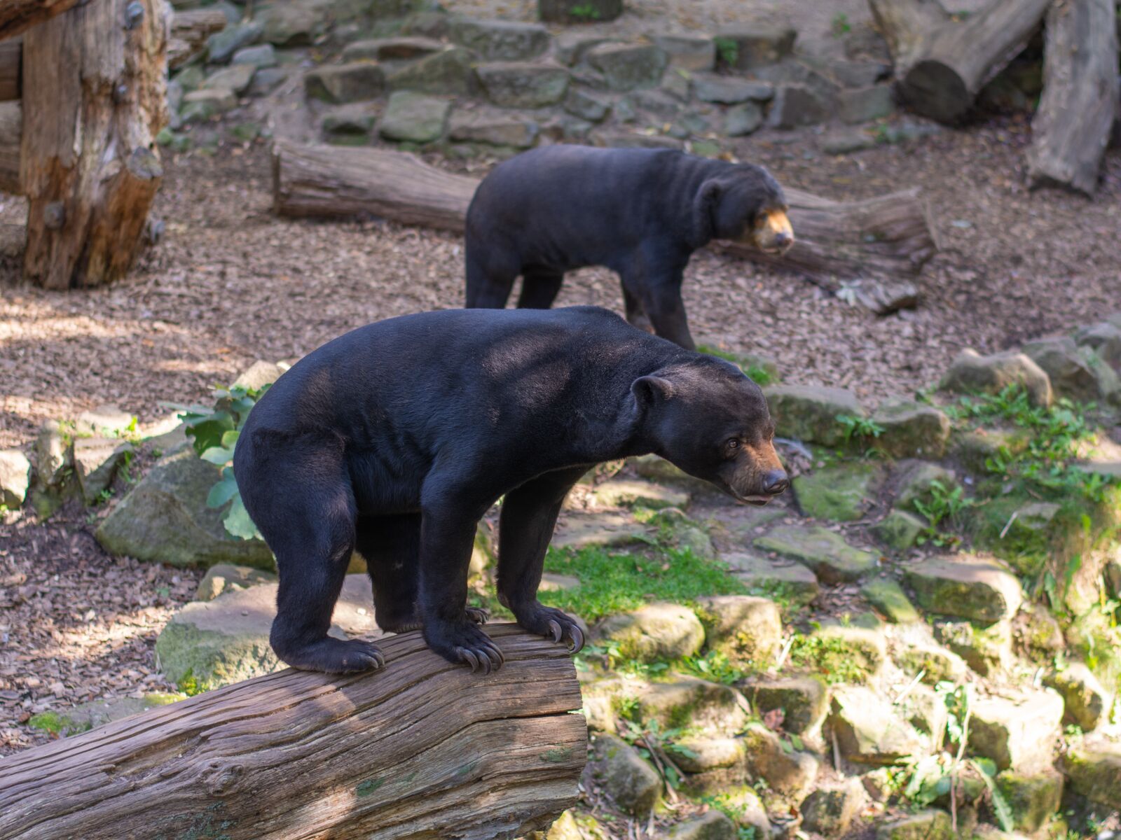
<path id="1" fill-rule="evenodd" d="M 707 239 L 741 242 L 772 254 L 794 245 L 786 195 L 761 166 L 740 164 L 708 178 L 696 204 L 697 225 Z"/>

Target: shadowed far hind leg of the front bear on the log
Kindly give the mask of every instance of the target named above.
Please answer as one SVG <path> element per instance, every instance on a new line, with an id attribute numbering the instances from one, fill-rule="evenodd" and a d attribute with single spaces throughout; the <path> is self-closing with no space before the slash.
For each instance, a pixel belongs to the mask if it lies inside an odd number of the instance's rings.
<path id="1" fill-rule="evenodd" d="M 362 516 L 354 549 L 365 559 L 373 585 L 373 617 L 387 633 L 420 629 L 420 514 Z M 485 609 L 467 607 L 467 617 L 485 624 Z"/>

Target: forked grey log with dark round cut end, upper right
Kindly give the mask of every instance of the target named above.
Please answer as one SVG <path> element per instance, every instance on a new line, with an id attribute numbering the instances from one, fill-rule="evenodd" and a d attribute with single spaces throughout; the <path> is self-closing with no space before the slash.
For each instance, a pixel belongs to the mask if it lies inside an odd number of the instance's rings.
<path id="1" fill-rule="evenodd" d="M 923 0 L 870 0 L 889 48 L 898 50 L 900 99 L 941 122 L 965 115 L 985 83 L 1023 49 L 1051 1 L 990 0 L 962 21 L 930 28 L 937 11 L 920 9 L 929 6 Z"/>

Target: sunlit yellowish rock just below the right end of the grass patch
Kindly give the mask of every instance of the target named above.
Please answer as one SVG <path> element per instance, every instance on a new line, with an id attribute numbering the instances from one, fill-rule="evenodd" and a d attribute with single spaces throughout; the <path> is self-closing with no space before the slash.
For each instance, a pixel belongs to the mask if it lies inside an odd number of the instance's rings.
<path id="1" fill-rule="evenodd" d="M 782 641 L 778 606 L 750 595 L 716 595 L 697 599 L 708 650 L 733 662 L 769 662 Z"/>

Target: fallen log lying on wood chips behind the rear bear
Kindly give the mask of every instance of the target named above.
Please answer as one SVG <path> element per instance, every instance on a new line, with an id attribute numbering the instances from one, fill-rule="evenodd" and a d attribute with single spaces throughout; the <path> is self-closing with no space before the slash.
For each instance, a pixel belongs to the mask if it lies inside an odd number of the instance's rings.
<path id="1" fill-rule="evenodd" d="M 405 152 L 297 146 L 278 141 L 272 158 L 274 209 L 281 216 L 373 215 L 462 232 L 479 181 L 436 169 Z M 787 189 L 796 243 L 782 256 L 726 244 L 736 256 L 790 269 L 836 291 L 843 280 L 918 273 L 937 251 L 918 190 L 863 202 L 833 202 Z M 872 306 L 877 310 L 890 306 Z"/>

